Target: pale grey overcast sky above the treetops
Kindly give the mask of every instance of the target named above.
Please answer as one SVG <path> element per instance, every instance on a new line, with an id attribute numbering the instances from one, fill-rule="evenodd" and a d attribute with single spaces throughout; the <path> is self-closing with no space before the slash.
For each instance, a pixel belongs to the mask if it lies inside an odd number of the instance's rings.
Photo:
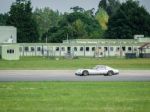
<path id="1" fill-rule="evenodd" d="M 8 12 L 10 10 L 12 2 L 14 1 L 16 0 L 0 0 L 0 13 Z M 97 9 L 99 1 L 100 0 L 31 0 L 33 9 L 35 9 L 36 7 L 50 7 L 51 9 L 58 10 L 60 12 L 69 12 L 70 7 L 73 6 L 80 6 L 85 10 L 92 8 Z M 139 1 L 150 12 L 150 0 Z"/>

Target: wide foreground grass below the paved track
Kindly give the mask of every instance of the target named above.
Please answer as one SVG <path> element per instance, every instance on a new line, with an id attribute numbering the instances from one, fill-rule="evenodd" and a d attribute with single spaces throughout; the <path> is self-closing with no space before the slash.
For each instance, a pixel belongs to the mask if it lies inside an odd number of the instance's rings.
<path id="1" fill-rule="evenodd" d="M 149 112 L 150 82 L 1 82 L 0 112 Z"/>

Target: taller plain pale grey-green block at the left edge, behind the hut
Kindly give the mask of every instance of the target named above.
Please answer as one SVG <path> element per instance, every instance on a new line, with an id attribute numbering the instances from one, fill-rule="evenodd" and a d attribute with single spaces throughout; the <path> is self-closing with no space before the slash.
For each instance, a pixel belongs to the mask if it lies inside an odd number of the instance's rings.
<path id="1" fill-rule="evenodd" d="M 0 43 L 16 43 L 17 29 L 13 26 L 0 26 Z"/>

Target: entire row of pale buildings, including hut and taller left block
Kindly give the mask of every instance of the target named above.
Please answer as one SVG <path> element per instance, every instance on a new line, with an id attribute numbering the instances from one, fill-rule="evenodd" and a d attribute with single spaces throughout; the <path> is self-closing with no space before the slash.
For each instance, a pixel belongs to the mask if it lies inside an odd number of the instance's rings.
<path id="1" fill-rule="evenodd" d="M 150 37 L 135 35 L 134 39 L 73 39 L 62 43 L 17 43 L 17 30 L 0 27 L 0 57 L 18 60 L 20 56 L 86 56 L 108 57 L 134 54 L 149 57 Z"/>

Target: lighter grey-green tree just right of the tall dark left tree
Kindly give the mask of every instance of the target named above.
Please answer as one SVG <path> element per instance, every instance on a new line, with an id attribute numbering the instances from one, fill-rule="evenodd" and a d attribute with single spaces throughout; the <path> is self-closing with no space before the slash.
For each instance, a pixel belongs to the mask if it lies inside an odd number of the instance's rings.
<path id="1" fill-rule="evenodd" d="M 43 34 L 47 32 L 50 27 L 56 27 L 58 22 L 62 19 L 62 15 L 58 11 L 53 11 L 48 7 L 45 7 L 44 9 L 36 8 L 33 15 L 38 23 L 37 27 L 40 40 Z"/>

